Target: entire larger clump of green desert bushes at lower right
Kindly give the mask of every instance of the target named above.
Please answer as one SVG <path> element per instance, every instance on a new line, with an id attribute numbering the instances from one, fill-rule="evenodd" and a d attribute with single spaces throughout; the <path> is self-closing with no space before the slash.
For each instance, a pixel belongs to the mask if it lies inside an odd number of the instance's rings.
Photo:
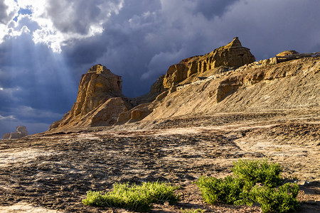
<path id="1" fill-rule="evenodd" d="M 289 212 L 297 209 L 299 202 L 297 184 L 283 182 L 278 163 L 267 159 L 242 160 L 234 163 L 234 176 L 227 178 L 200 177 L 196 182 L 205 202 L 249 204 L 257 202 L 262 212 Z"/>

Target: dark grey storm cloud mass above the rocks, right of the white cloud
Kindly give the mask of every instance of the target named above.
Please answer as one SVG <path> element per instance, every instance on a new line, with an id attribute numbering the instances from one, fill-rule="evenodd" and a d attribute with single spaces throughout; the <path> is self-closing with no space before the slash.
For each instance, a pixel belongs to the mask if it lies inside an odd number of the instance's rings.
<path id="1" fill-rule="evenodd" d="M 77 72 L 102 63 L 122 75 L 124 94 L 132 97 L 148 92 L 169 65 L 235 36 L 257 59 L 290 48 L 315 51 L 316 45 L 308 45 L 319 41 L 310 28 L 319 19 L 316 9 L 308 13 L 308 4 L 299 1 L 124 1 L 104 23 L 102 35 L 73 40 L 63 52 Z"/>

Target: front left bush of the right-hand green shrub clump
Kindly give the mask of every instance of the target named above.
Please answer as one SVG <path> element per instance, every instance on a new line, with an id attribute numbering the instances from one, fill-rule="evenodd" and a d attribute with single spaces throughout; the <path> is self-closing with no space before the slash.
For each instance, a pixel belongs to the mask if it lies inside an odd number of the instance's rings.
<path id="1" fill-rule="evenodd" d="M 226 178 L 201 176 L 196 184 L 205 202 L 210 204 L 216 202 L 233 203 L 235 200 L 239 200 L 244 181 L 231 176 Z"/>

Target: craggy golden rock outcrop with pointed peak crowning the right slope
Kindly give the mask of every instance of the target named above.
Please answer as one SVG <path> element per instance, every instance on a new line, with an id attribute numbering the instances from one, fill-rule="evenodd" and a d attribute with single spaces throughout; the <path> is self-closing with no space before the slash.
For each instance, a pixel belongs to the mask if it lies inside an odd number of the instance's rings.
<path id="1" fill-rule="evenodd" d="M 176 65 L 171 65 L 164 77 L 164 88 L 174 87 L 179 82 L 192 75 L 201 74 L 216 67 L 241 67 L 255 62 L 255 56 L 250 49 L 242 47 L 238 37 L 223 47 L 206 55 L 186 58 Z"/>

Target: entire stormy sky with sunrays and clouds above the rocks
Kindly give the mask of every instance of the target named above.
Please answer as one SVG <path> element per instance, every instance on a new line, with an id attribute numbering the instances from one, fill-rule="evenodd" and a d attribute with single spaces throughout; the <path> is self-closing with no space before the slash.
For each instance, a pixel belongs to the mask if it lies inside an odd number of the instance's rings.
<path id="1" fill-rule="evenodd" d="M 98 63 L 122 92 L 149 92 L 170 65 L 238 36 L 256 60 L 320 51 L 319 0 L 0 0 L 0 138 L 46 131 Z"/>

